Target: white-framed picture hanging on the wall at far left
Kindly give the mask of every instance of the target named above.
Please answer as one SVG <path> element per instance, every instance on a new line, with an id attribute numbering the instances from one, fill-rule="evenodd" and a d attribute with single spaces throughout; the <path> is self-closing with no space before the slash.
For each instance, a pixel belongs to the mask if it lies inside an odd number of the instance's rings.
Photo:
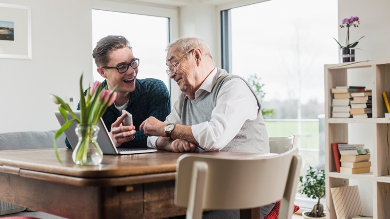
<path id="1" fill-rule="evenodd" d="M 0 58 L 31 59 L 31 8 L 0 3 Z"/>

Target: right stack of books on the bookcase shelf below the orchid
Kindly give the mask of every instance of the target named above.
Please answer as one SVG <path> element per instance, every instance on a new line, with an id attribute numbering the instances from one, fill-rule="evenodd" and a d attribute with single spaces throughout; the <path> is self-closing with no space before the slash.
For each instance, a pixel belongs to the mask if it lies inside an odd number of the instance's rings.
<path id="1" fill-rule="evenodd" d="M 372 117 L 371 90 L 351 93 L 351 116 L 353 118 Z"/>

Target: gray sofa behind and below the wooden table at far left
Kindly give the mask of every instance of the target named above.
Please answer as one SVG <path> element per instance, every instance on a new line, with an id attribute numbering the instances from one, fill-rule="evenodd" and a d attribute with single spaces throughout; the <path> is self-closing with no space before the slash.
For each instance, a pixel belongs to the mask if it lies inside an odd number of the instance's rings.
<path id="1" fill-rule="evenodd" d="M 0 150 L 53 148 L 55 133 L 56 130 L 0 133 Z M 59 136 L 57 139 L 57 146 L 66 147 L 65 135 Z M 58 216 L 34 211 L 32 209 L 5 201 L 0 201 L 0 218 L 13 216 L 29 216 L 41 219 L 63 219 Z"/>

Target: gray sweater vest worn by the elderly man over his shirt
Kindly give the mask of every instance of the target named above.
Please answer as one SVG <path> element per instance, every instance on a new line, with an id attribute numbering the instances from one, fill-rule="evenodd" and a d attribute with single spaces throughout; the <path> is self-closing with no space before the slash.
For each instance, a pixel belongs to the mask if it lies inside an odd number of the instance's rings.
<path id="1" fill-rule="evenodd" d="M 216 106 L 216 97 L 224 82 L 231 80 L 232 78 L 241 77 L 229 74 L 223 69 L 217 69 L 215 75 L 215 84 L 212 91 L 209 93 L 203 91 L 197 99 L 189 99 L 184 92 L 180 94 L 180 123 L 183 125 L 196 125 L 202 122 L 211 120 L 211 112 Z M 251 86 L 244 79 L 249 89 Z M 241 127 L 238 134 L 229 142 L 221 151 L 229 152 L 249 152 L 249 153 L 269 153 L 270 146 L 268 140 L 267 128 L 264 123 L 263 115 L 261 114 L 261 104 L 257 99 L 257 105 L 259 106 L 257 118 L 254 120 L 246 120 Z M 237 112 L 239 113 L 239 112 Z M 200 146 L 202 147 L 202 146 Z"/>

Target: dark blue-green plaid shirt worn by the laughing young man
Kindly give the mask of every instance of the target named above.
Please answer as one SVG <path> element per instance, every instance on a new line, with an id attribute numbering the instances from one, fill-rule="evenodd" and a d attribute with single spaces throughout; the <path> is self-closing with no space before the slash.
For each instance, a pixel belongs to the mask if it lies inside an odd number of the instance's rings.
<path id="1" fill-rule="evenodd" d="M 106 80 L 102 85 L 107 85 Z M 120 147 L 147 147 L 148 137 L 144 135 L 143 130 L 139 130 L 141 123 L 150 116 L 165 121 L 165 117 L 171 113 L 171 99 L 164 82 L 154 78 L 136 79 L 136 89 L 130 93 L 126 110 L 133 115 L 133 125 L 137 132 L 133 141 L 125 142 Z M 114 104 L 107 108 L 102 118 L 108 131 L 111 131 L 111 125 L 120 115 Z M 70 147 L 67 140 L 66 145 Z"/>

